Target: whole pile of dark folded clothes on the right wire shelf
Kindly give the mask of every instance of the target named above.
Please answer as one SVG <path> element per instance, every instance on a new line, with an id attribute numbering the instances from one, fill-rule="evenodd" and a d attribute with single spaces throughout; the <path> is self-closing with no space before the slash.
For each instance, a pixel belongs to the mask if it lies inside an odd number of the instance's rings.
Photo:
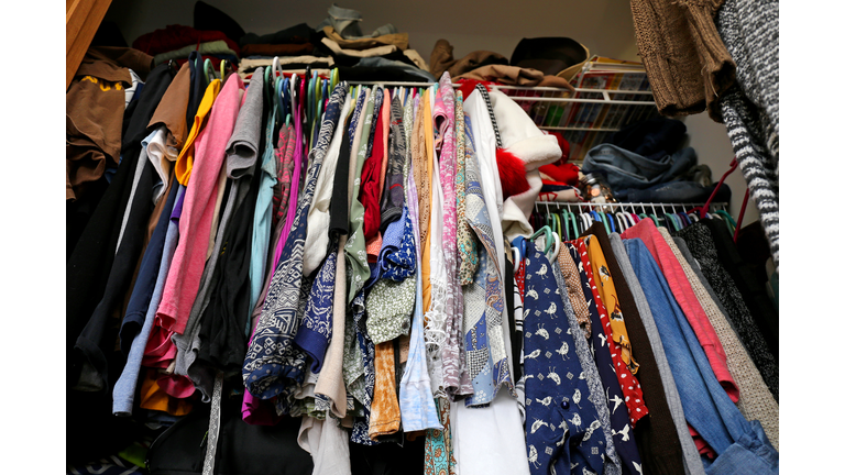
<path id="1" fill-rule="evenodd" d="M 713 186 L 710 168 L 682 146 L 685 134 L 683 122 L 662 115 L 633 123 L 591 148 L 582 173 L 602 175 L 622 202 L 704 202 L 716 188 L 715 201 L 731 201 L 731 189 Z"/>

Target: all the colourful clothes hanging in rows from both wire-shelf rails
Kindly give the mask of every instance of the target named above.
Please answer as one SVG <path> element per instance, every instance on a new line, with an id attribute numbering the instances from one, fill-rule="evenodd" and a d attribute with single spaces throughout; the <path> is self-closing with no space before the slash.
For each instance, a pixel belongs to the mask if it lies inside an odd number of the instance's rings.
<path id="1" fill-rule="evenodd" d="M 531 216 L 560 145 L 448 74 L 330 87 L 259 68 L 246 87 L 194 56 L 127 112 L 114 202 L 68 263 L 95 279 L 69 328 L 102 354 L 75 353 L 75 400 L 110 389 L 112 413 L 154 423 L 210 402 L 206 471 L 233 412 L 299 418 L 318 473 L 388 454 L 450 475 L 777 473 L 770 316 L 721 223 L 603 212 L 572 234 Z M 503 189 L 503 153 L 527 191 Z M 77 254 L 95 243 L 96 265 Z"/>

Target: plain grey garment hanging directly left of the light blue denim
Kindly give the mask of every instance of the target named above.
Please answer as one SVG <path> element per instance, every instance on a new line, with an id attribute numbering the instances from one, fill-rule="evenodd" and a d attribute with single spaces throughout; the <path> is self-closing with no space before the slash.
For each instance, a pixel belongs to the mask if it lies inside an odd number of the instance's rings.
<path id="1" fill-rule="evenodd" d="M 616 256 L 616 261 L 622 268 L 625 281 L 628 283 L 630 294 L 634 296 L 637 311 L 639 311 L 639 317 L 643 320 L 643 325 L 648 333 L 648 341 L 651 343 L 651 351 L 655 354 L 657 371 L 660 372 L 660 378 L 663 382 L 666 402 L 669 405 L 669 411 L 672 413 L 672 420 L 678 430 L 678 437 L 681 440 L 681 449 L 683 450 L 683 461 L 687 464 L 687 473 L 690 475 L 704 475 L 704 465 L 699 456 L 699 451 L 695 449 L 695 443 L 692 441 L 690 430 L 687 428 L 687 420 L 683 417 L 683 407 L 681 406 L 681 396 L 678 394 L 678 387 L 674 385 L 674 377 L 672 377 L 669 361 L 666 358 L 666 352 L 660 342 L 660 333 L 657 331 L 657 324 L 651 314 L 651 309 L 648 307 L 648 301 L 643 292 L 643 287 L 639 286 L 637 275 L 630 266 L 628 253 L 625 251 L 625 244 L 622 243 L 622 238 L 619 238 L 618 233 L 611 234 L 611 246 L 613 247 L 613 254 Z"/>

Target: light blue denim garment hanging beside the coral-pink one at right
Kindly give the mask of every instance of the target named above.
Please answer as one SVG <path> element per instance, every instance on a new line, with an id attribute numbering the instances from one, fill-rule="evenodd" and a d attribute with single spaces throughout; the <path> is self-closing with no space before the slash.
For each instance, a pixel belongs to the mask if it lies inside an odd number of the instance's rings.
<path id="1" fill-rule="evenodd" d="M 778 453 L 759 422 L 745 420 L 718 384 L 707 357 L 669 284 L 639 239 L 625 240 L 625 248 L 655 317 L 660 341 L 672 362 L 672 376 L 689 422 L 716 452 L 707 474 L 778 473 Z"/>

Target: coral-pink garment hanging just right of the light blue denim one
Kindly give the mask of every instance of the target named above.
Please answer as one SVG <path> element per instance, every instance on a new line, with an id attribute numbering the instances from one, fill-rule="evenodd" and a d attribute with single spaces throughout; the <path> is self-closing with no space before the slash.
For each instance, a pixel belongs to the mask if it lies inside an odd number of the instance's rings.
<path id="1" fill-rule="evenodd" d="M 660 231 L 657 230 L 655 223 L 649 219 L 644 219 L 636 225 L 625 230 L 622 233 L 622 238 L 639 238 L 646 244 L 660 270 L 662 270 L 666 280 L 669 283 L 678 306 L 681 307 L 683 314 L 687 316 L 687 320 L 690 322 L 690 327 L 695 332 L 704 354 L 707 355 L 707 361 L 713 368 L 713 373 L 716 375 L 716 379 L 722 384 L 731 400 L 734 402 L 739 400 L 739 389 L 727 371 L 727 356 L 722 347 L 722 342 L 718 341 L 716 331 L 713 330 L 713 324 L 710 323 L 707 314 L 704 313 L 704 309 L 695 297 L 692 286 L 690 286 L 690 281 L 687 280 L 683 267 L 674 257 L 671 247 L 666 243 L 663 236 L 660 235 Z"/>

